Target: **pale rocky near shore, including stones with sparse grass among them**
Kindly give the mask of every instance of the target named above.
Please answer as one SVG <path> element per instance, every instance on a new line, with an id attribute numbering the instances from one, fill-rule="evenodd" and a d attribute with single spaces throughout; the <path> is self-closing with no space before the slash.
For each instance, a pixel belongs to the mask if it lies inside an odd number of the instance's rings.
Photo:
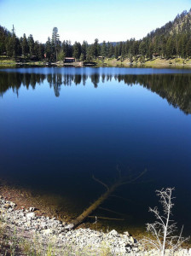
<path id="1" fill-rule="evenodd" d="M 14 237 L 14 243 L 17 241 L 21 248 L 27 245 L 29 251 L 36 252 L 32 255 L 159 255 L 154 250 L 145 251 L 141 242 L 130 236 L 128 231 L 124 234 L 116 230 L 107 233 L 90 229 L 67 231 L 67 223 L 37 216 L 34 207 L 14 208 L 14 202 L 6 201 L 0 195 L 1 230 L 4 235 Z M 31 255 L 21 252 L 13 255 Z M 1 253 L 0 250 L 0 255 L 4 255 Z M 165 255 L 171 254 L 166 250 Z M 191 249 L 182 249 L 174 255 L 191 255 Z"/>

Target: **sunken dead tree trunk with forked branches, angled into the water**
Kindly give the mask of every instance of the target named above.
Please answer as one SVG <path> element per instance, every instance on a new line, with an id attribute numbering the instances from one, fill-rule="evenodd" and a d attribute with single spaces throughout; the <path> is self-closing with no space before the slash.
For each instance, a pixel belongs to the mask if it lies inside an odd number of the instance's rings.
<path id="1" fill-rule="evenodd" d="M 107 190 L 104 194 L 102 194 L 94 203 L 92 203 L 90 205 L 90 207 L 88 207 L 86 210 L 84 210 L 84 212 L 82 212 L 82 214 L 80 214 L 78 216 L 78 218 L 74 219 L 72 221 L 72 224 L 68 224 L 65 227 L 65 230 L 72 230 L 75 229 L 79 224 L 83 223 L 84 220 L 86 218 L 88 218 L 90 216 L 90 214 L 92 212 L 94 212 L 96 210 L 97 207 L 99 207 L 102 202 L 106 201 L 107 198 L 112 195 L 113 191 L 115 191 L 119 186 L 128 184 L 128 183 L 134 183 L 136 182 L 136 180 L 140 177 L 142 177 L 142 175 L 147 172 L 147 170 L 145 170 L 144 172 L 139 173 L 138 175 L 130 175 L 128 177 L 121 177 L 121 173 L 119 168 L 117 167 L 117 170 L 119 171 L 119 178 L 111 185 L 108 186 L 106 183 L 103 183 L 101 180 L 99 180 L 98 178 L 93 176 L 93 179 L 98 182 L 101 183 L 101 185 L 103 185 Z"/>

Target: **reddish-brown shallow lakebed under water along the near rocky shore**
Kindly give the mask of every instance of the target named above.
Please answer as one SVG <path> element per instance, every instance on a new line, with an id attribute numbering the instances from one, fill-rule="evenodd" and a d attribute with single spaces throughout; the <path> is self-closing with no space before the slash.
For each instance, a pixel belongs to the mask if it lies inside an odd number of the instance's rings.
<path id="1" fill-rule="evenodd" d="M 13 201 L 16 204 L 16 210 L 35 207 L 38 209 L 36 212 L 38 216 L 43 215 L 49 218 L 57 218 L 68 223 L 72 222 L 81 213 L 81 211 L 76 212 L 77 208 L 75 205 L 72 207 L 73 203 L 68 204 L 68 201 L 62 197 L 60 198 L 59 195 L 47 195 L 38 190 L 30 188 L 26 189 L 3 179 L 0 179 L 0 195 L 3 195 L 8 201 Z M 64 207 L 61 207 L 61 205 L 64 205 Z M 121 224 L 118 227 L 113 221 L 111 223 L 111 220 L 108 223 L 107 219 L 99 219 L 95 225 L 94 219 L 88 218 L 84 223 L 80 224 L 79 227 L 90 228 L 92 230 L 103 230 L 104 232 L 115 229 L 119 233 L 123 233 L 126 227 L 128 227 L 128 231 L 135 236 L 136 239 L 141 239 L 142 236 L 147 234 L 145 224 L 134 225 L 125 223 L 125 226 L 121 229 Z"/>

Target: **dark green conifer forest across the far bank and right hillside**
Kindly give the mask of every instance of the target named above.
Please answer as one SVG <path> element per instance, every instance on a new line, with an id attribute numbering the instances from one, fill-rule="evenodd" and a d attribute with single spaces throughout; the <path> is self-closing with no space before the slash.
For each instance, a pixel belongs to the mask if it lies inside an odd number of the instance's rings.
<path id="1" fill-rule="evenodd" d="M 45 44 L 34 41 L 32 34 L 26 38 L 18 38 L 14 26 L 9 32 L 0 26 L 0 55 L 7 55 L 13 59 L 22 55 L 24 59 L 32 61 L 63 61 L 65 57 L 74 57 L 78 61 L 94 61 L 100 56 L 115 58 L 120 61 L 128 58 L 131 61 L 151 60 L 155 56 L 160 58 L 191 57 L 191 9 L 177 15 L 160 28 L 148 33 L 145 38 L 136 40 L 130 38 L 125 42 L 94 44 L 84 41 L 82 44 L 64 40 L 61 42 L 58 28 L 54 27 L 52 37 Z"/>

